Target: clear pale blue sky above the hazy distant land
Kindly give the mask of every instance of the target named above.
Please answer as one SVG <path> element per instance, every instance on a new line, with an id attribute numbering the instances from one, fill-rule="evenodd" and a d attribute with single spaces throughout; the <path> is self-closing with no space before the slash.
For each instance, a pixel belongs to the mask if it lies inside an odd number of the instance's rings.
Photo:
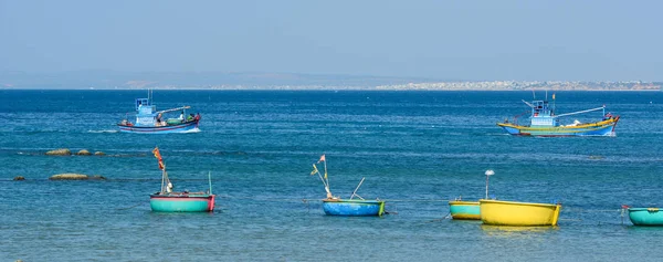
<path id="1" fill-rule="evenodd" d="M 661 81 L 663 1 L 0 0 L 0 71 Z"/>

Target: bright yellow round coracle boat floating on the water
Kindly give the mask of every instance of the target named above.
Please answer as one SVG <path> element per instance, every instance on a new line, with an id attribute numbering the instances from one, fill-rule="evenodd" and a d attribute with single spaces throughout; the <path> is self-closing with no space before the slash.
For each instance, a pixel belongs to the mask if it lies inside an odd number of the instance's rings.
<path id="1" fill-rule="evenodd" d="M 556 226 L 561 205 L 478 200 L 481 221 L 494 226 Z"/>

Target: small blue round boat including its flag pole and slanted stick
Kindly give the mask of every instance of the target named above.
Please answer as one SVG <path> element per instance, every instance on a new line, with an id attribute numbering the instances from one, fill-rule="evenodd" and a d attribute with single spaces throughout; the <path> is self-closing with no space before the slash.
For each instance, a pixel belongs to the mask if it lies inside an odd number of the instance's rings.
<path id="1" fill-rule="evenodd" d="M 323 185 L 325 186 L 325 191 L 327 191 L 327 198 L 323 199 L 323 210 L 328 216 L 344 216 L 344 217 L 369 217 L 369 216 L 382 216 L 385 213 L 385 201 L 376 199 L 376 200 L 366 200 L 361 196 L 357 195 L 357 190 L 364 184 L 365 178 L 361 178 L 355 191 L 349 199 L 341 199 L 339 197 L 335 197 L 332 195 L 329 190 L 329 177 L 327 175 L 327 159 L 325 155 L 320 157 L 320 159 L 316 163 L 324 163 L 325 165 L 325 176 L 323 176 L 315 164 L 313 164 L 313 171 L 311 175 L 318 175 Z M 357 197 L 358 199 L 354 199 Z"/>

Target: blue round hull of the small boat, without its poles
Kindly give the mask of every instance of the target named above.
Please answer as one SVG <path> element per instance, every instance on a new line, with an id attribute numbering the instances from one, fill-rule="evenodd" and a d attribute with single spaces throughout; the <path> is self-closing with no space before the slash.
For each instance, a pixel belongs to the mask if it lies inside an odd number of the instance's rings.
<path id="1" fill-rule="evenodd" d="M 323 210 L 328 216 L 368 217 L 382 216 L 385 201 L 324 199 Z"/>

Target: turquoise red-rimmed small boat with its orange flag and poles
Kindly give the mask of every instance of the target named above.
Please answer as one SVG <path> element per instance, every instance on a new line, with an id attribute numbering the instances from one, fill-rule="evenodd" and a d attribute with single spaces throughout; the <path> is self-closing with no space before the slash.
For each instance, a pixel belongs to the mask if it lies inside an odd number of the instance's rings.
<path id="1" fill-rule="evenodd" d="M 172 182 L 168 178 L 166 165 L 156 147 L 152 153 L 159 160 L 161 169 L 161 190 L 149 196 L 149 206 L 155 212 L 211 212 L 214 210 L 211 175 L 208 174 L 209 186 L 207 192 L 172 191 Z"/>

